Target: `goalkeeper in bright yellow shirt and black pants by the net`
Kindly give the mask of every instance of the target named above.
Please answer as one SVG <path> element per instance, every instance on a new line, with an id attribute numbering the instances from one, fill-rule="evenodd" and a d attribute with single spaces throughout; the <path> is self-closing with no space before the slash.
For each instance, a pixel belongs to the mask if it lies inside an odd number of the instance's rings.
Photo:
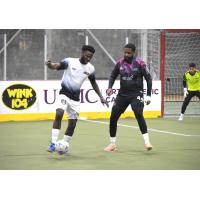
<path id="1" fill-rule="evenodd" d="M 184 113 L 192 97 L 197 96 L 200 100 L 200 71 L 195 63 L 189 64 L 189 70 L 183 75 L 184 101 L 181 107 L 179 121 L 183 120 Z"/>

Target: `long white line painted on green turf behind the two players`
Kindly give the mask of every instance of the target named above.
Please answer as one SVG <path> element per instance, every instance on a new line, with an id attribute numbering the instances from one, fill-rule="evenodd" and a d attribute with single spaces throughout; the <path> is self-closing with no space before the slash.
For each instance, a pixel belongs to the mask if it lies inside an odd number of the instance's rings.
<path id="1" fill-rule="evenodd" d="M 97 120 L 89 120 L 89 119 L 84 119 L 84 118 L 80 118 L 80 120 L 87 121 L 87 122 L 92 122 L 92 123 L 98 123 L 98 124 L 107 124 L 107 125 L 109 124 L 108 122 L 102 122 L 102 121 L 97 121 Z M 118 126 L 139 129 L 138 126 L 129 126 L 129 125 L 120 124 L 120 123 L 118 123 Z M 148 130 L 152 131 L 152 132 L 157 132 L 157 133 L 166 133 L 166 134 L 169 134 L 169 135 L 178 135 L 178 136 L 184 136 L 184 137 L 200 137 L 200 135 L 175 133 L 175 132 L 170 132 L 170 131 L 161 131 L 161 130 L 157 130 L 157 129 L 148 129 Z"/>

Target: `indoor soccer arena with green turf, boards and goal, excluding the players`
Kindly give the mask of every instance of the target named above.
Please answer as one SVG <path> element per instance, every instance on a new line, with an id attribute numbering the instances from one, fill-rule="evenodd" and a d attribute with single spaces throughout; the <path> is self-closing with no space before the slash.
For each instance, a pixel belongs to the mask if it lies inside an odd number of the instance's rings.
<path id="1" fill-rule="evenodd" d="M 152 78 L 151 103 L 144 105 L 143 115 L 153 148 L 144 148 L 128 106 L 117 123 L 117 149 L 107 152 L 111 111 L 120 89 L 118 76 L 112 94 L 107 94 L 109 77 L 130 43 Z M 83 45 L 95 49 L 91 64 L 109 107 L 102 105 L 86 79 L 69 151 L 49 152 L 63 70 L 51 70 L 46 62 L 79 58 Z M 199 170 L 197 96 L 180 119 L 187 92 L 183 77 L 191 63 L 200 70 L 199 55 L 200 29 L 1 29 L 0 170 Z M 200 77 L 198 81 L 200 88 Z M 145 79 L 143 83 L 145 99 Z M 58 139 L 67 126 L 64 113 Z"/>

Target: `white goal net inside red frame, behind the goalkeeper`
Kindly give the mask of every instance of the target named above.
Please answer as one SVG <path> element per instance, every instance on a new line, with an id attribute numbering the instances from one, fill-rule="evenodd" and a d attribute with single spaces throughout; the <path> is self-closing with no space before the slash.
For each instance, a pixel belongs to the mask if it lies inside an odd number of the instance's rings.
<path id="1" fill-rule="evenodd" d="M 165 115 L 179 114 L 183 102 L 183 75 L 189 63 L 200 66 L 200 32 L 166 33 Z M 193 97 L 185 114 L 200 115 L 199 99 Z"/>

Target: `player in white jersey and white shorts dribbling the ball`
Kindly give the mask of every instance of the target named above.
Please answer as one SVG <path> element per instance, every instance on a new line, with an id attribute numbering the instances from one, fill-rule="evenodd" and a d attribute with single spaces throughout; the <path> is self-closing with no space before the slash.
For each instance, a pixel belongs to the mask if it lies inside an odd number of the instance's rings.
<path id="1" fill-rule="evenodd" d="M 70 142 L 80 112 L 80 88 L 87 78 L 99 96 L 101 103 L 106 104 L 108 107 L 108 102 L 103 98 L 96 83 L 95 68 L 90 63 L 94 53 L 95 49 L 92 46 L 84 45 L 80 58 L 65 58 L 60 63 L 52 63 L 50 60 L 46 62 L 46 65 L 50 69 L 64 70 L 61 81 L 62 88 L 58 98 L 58 107 L 53 122 L 51 143 L 48 149 L 49 152 L 55 151 L 55 144 L 60 133 L 64 111 L 66 111 L 68 116 L 68 127 L 63 140 L 67 143 Z"/>

